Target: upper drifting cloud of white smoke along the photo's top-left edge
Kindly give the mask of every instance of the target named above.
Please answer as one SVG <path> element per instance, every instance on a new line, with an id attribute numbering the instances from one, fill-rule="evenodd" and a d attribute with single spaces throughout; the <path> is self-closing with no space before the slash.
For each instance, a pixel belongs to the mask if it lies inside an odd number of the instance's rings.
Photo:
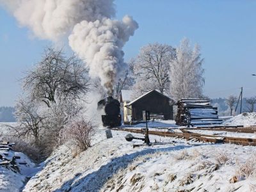
<path id="1" fill-rule="evenodd" d="M 113 0 L 0 0 L 35 36 L 56 41 L 82 20 L 115 16 Z"/>

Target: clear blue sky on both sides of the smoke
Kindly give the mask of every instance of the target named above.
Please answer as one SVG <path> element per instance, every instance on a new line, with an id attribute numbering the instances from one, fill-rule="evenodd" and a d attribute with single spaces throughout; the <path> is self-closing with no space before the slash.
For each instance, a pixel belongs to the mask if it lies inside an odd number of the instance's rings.
<path id="1" fill-rule="evenodd" d="M 179 45 L 185 36 L 199 44 L 205 59 L 205 95 L 256 95 L 256 1 L 116 0 L 116 18 L 132 15 L 140 25 L 125 45 L 125 60 L 153 42 Z M 19 79 L 51 42 L 31 38 L 0 8 L 0 106 L 13 106 Z"/>

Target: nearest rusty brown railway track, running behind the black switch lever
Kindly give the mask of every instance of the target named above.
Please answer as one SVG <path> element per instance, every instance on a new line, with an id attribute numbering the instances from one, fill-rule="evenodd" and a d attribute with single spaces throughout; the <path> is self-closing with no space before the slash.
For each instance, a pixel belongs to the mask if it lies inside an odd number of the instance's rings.
<path id="1" fill-rule="evenodd" d="M 113 128 L 112 130 L 144 134 L 144 129 Z M 198 134 L 193 132 L 148 131 L 148 134 L 171 137 L 171 138 L 181 138 L 181 139 L 186 139 L 188 141 L 193 140 L 193 141 L 203 141 L 207 143 L 230 143 L 230 144 L 236 144 L 236 145 L 256 146 L 256 139 L 252 139 L 252 138 L 232 138 L 232 137 L 214 136 L 214 135 L 207 135 L 207 134 Z"/>

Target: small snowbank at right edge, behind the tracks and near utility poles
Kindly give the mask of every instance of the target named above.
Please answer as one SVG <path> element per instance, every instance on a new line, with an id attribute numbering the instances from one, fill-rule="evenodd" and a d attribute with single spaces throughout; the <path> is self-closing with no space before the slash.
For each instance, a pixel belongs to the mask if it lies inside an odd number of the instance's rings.
<path id="1" fill-rule="evenodd" d="M 226 120 L 223 125 L 244 125 L 244 127 L 256 125 L 256 113 L 242 113 Z"/>

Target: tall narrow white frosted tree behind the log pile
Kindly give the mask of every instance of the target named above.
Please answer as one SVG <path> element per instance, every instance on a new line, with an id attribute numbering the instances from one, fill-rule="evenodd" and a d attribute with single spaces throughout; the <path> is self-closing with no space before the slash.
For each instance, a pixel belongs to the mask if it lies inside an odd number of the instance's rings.
<path id="1" fill-rule="evenodd" d="M 200 48 L 191 48 L 184 38 L 176 49 L 176 57 L 170 60 L 170 95 L 173 99 L 202 97 L 204 68 Z"/>

